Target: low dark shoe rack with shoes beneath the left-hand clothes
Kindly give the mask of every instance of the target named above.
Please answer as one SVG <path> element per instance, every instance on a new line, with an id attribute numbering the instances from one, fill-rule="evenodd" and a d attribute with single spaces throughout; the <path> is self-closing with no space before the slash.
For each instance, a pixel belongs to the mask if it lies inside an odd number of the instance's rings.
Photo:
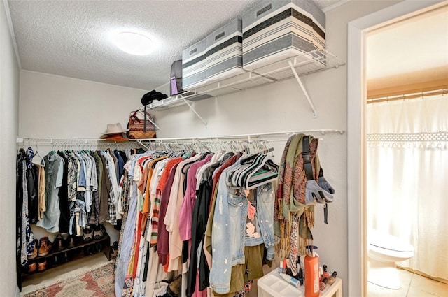
<path id="1" fill-rule="evenodd" d="M 99 239 L 92 239 L 88 242 L 83 241 L 83 237 L 74 237 L 73 246 L 57 247 L 55 242 L 52 243 L 52 248 L 45 256 L 36 256 L 34 259 L 29 259 L 25 266 L 19 266 L 18 272 L 19 289 L 22 291 L 22 281 L 25 277 L 33 277 L 36 273 L 43 273 L 46 270 L 61 266 L 65 263 L 76 261 L 77 259 L 103 252 L 106 258 L 111 260 L 111 238 L 107 233 Z M 29 268 L 31 266 L 31 272 Z M 33 269 L 34 268 L 34 269 Z"/>

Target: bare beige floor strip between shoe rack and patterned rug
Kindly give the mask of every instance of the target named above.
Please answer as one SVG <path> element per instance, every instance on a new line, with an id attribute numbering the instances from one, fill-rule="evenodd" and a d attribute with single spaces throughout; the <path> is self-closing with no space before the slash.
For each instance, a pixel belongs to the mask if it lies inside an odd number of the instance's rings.
<path id="1" fill-rule="evenodd" d="M 57 282 L 57 280 L 71 277 L 72 275 L 78 275 L 87 270 L 92 270 L 92 268 L 102 266 L 107 262 L 108 260 L 104 253 L 97 253 L 83 259 L 62 264 L 61 266 L 51 268 L 43 271 L 42 273 L 30 275 L 23 280 L 20 297 L 29 292 L 35 291 L 36 289 L 48 287 L 50 284 Z"/>

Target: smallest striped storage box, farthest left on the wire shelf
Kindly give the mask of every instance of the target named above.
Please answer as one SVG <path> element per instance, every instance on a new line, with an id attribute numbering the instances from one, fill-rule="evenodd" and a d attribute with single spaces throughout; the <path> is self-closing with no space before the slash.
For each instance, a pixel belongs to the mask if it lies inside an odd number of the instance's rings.
<path id="1" fill-rule="evenodd" d="M 182 87 L 193 90 L 204 85 L 206 78 L 205 39 L 182 51 Z"/>

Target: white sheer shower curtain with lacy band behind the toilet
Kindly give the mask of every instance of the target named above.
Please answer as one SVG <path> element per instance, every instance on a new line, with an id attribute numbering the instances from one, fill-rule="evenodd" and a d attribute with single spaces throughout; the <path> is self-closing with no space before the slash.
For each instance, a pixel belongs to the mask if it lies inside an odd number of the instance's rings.
<path id="1" fill-rule="evenodd" d="M 367 226 L 414 246 L 400 266 L 448 279 L 448 94 L 367 105 Z"/>

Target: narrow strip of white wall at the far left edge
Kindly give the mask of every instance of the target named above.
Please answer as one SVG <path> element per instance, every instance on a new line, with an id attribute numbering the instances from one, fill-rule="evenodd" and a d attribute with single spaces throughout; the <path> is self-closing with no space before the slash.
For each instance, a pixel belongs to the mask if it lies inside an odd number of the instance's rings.
<path id="1" fill-rule="evenodd" d="M 19 67 L 0 4 L 0 287 L 15 296 L 15 136 L 18 133 Z"/>

